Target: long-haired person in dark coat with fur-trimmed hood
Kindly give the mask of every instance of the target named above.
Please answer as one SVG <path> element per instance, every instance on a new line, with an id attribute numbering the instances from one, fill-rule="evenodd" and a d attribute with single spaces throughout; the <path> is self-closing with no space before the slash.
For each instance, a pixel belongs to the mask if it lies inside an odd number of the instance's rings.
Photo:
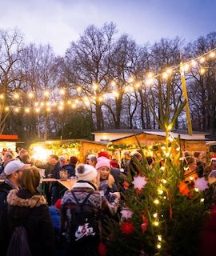
<path id="1" fill-rule="evenodd" d="M 32 256 L 55 255 L 54 229 L 46 199 L 37 191 L 40 182 L 38 168 L 22 171 L 22 189 L 10 190 L 8 230 L 12 236 L 16 226 L 24 226 Z"/>

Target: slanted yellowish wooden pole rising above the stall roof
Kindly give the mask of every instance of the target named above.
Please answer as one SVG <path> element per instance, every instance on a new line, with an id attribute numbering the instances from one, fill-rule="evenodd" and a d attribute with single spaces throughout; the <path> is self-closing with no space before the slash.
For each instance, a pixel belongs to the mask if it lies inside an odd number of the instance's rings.
<path id="1" fill-rule="evenodd" d="M 191 124 L 191 119 L 190 119 L 190 107 L 189 107 L 187 90 L 186 90 L 186 78 L 185 78 L 184 66 L 183 66 L 182 62 L 180 63 L 180 73 L 181 73 L 183 97 L 186 101 L 185 110 L 186 110 L 187 130 L 188 130 L 188 134 L 192 135 L 192 124 Z"/>

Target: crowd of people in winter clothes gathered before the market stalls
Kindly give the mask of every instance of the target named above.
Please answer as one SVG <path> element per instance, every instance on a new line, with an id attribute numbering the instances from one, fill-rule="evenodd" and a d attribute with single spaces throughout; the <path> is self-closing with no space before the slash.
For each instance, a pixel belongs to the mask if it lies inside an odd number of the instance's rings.
<path id="1" fill-rule="evenodd" d="M 128 172 L 140 174 L 139 151 L 125 151 L 121 161 L 106 151 L 90 154 L 85 163 L 78 158 L 51 154 L 47 161 L 31 158 L 27 150 L 2 154 L 0 184 L 0 246 L 1 255 L 98 255 L 102 230 L 110 218 L 118 218 L 120 192 Z M 154 167 L 154 158 L 147 157 Z M 203 154 L 185 153 L 185 178 L 211 177 L 216 173 L 216 158 L 210 165 Z M 68 178 L 77 182 L 65 190 L 59 182 L 41 184 L 45 178 Z M 17 246 L 19 244 L 19 246 Z"/>

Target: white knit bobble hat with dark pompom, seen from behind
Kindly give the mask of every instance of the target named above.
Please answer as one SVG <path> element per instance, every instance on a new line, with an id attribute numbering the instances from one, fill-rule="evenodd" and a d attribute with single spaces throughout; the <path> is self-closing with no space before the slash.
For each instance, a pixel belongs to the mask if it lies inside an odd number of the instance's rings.
<path id="1" fill-rule="evenodd" d="M 78 177 L 78 180 L 91 182 L 97 175 L 98 172 L 93 166 L 80 164 L 76 167 L 76 176 Z"/>

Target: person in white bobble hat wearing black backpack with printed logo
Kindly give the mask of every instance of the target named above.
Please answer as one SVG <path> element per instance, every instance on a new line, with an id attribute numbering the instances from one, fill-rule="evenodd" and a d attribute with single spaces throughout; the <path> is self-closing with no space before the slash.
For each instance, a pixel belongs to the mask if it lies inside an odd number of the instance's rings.
<path id="1" fill-rule="evenodd" d="M 76 176 L 78 182 L 62 198 L 61 232 L 66 238 L 66 254 L 98 255 L 102 196 L 96 185 L 97 170 L 80 164 L 76 167 Z"/>

